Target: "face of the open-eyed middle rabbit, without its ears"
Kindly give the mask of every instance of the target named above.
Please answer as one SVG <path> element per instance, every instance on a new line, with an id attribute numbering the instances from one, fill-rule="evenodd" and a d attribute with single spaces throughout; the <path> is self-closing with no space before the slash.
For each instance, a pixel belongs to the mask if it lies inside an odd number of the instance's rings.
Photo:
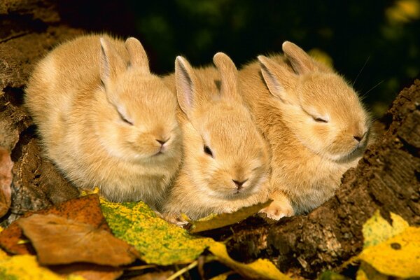
<path id="1" fill-rule="evenodd" d="M 189 168 L 199 188 L 224 200 L 258 192 L 267 174 L 264 142 L 257 130 L 250 129 L 252 121 L 245 109 L 238 106 L 211 104 L 193 122 L 194 155 Z"/>

